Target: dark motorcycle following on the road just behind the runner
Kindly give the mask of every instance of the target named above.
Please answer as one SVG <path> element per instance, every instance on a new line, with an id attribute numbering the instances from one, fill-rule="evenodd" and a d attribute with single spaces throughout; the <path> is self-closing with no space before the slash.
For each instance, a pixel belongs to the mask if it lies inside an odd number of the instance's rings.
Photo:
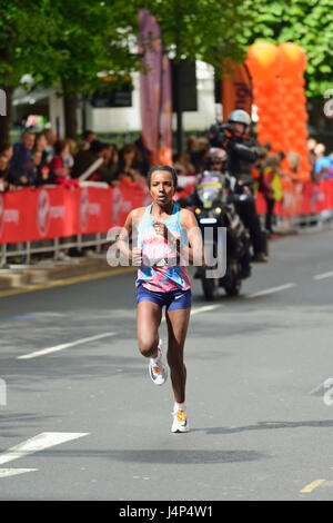
<path id="1" fill-rule="evenodd" d="M 188 206 L 189 199 L 181 198 L 179 203 Z M 230 200 L 228 177 L 219 171 L 203 171 L 191 203 L 204 239 L 206 262 L 206 267 L 199 267 L 194 278 L 201 279 L 204 297 L 209 300 L 219 295 L 220 287 L 229 296 L 239 295 L 242 279 L 251 275 L 250 236 Z M 210 234 L 206 234 L 208 228 Z M 226 259 L 223 276 L 220 276 L 219 254 L 223 248 Z"/>

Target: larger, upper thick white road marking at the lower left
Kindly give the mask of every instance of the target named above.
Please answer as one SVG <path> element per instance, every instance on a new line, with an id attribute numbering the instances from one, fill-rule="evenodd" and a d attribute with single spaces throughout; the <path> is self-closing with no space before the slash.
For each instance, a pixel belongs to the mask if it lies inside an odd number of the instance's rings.
<path id="1" fill-rule="evenodd" d="M 4 454 L 0 454 L 0 465 L 88 435 L 89 433 L 83 432 L 42 432 L 26 442 L 12 446 Z"/>

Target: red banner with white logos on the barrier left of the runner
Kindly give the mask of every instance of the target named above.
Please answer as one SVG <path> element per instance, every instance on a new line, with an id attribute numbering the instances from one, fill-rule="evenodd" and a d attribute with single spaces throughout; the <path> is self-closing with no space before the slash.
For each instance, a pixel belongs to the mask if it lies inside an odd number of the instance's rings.
<path id="1" fill-rule="evenodd" d="M 129 211 L 142 203 L 138 184 L 0 194 L 0 244 L 107 233 L 113 225 L 123 225 Z"/>

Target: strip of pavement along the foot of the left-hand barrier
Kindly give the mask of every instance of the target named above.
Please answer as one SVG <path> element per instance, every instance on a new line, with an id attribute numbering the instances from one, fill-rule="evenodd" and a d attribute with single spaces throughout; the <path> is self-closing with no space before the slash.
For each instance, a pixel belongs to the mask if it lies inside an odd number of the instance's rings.
<path id="1" fill-rule="evenodd" d="M 110 267 L 107 262 L 107 253 L 91 257 L 72 257 L 70 260 L 42 260 L 34 265 L 10 265 L 7 269 L 0 269 L 0 290 L 24 289 L 36 285 L 69 280 L 80 276 L 101 277 L 119 269 Z M 137 267 L 123 267 L 125 270 L 134 270 Z"/>

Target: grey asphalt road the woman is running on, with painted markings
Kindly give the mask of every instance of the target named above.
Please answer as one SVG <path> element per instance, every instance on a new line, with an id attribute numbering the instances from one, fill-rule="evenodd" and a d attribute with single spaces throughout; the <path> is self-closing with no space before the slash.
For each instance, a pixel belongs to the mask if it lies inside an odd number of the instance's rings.
<path id="1" fill-rule="evenodd" d="M 189 434 L 138 352 L 134 273 L 0 298 L 0 499 L 333 500 L 332 255 L 332 230 L 271 243 L 213 304 L 193 280 Z"/>

